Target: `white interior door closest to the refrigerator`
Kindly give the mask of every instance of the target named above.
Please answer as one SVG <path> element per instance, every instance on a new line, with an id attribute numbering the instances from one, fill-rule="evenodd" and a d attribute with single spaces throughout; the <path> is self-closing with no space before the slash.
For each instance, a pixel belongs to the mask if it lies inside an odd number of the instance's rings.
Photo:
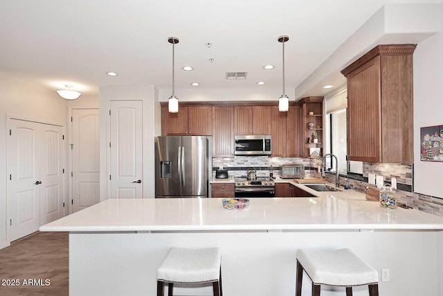
<path id="1" fill-rule="evenodd" d="M 143 198 L 142 101 L 111 101 L 111 198 Z"/>

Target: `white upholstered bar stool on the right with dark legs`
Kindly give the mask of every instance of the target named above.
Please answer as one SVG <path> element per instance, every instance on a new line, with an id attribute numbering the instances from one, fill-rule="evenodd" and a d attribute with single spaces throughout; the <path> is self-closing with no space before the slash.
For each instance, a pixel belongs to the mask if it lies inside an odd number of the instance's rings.
<path id="1" fill-rule="evenodd" d="M 346 296 L 352 296 L 353 286 L 368 285 L 370 296 L 379 295 L 379 273 L 349 249 L 298 250 L 296 296 L 302 295 L 303 270 L 312 281 L 312 296 L 320 296 L 320 285 L 346 287 Z"/>

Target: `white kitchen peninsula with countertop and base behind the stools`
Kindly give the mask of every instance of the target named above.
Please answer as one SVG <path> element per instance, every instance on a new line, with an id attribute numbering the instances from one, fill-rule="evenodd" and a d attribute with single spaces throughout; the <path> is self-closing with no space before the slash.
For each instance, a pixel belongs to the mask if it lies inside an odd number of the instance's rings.
<path id="1" fill-rule="evenodd" d="M 221 198 L 105 200 L 40 227 L 69 234 L 69 295 L 155 295 L 169 247 L 221 247 L 224 294 L 295 295 L 300 247 L 349 247 L 390 269 L 380 295 L 437 295 L 443 218 L 384 209 L 355 191 L 314 198 L 251 198 L 229 211 Z M 310 295 L 310 284 L 304 295 Z M 212 295 L 177 288 L 178 295 Z M 342 291 L 343 292 L 343 291 Z M 338 295 L 333 288 L 322 295 Z M 354 295 L 367 295 L 365 287 Z"/>

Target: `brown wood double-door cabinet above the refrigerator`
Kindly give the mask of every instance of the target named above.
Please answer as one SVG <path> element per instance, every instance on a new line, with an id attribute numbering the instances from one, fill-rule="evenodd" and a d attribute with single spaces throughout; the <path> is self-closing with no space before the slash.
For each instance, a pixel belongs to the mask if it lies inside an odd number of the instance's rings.
<path id="1" fill-rule="evenodd" d="M 161 134 L 210 136 L 213 134 L 213 107 L 180 106 L 178 113 L 161 107 Z"/>

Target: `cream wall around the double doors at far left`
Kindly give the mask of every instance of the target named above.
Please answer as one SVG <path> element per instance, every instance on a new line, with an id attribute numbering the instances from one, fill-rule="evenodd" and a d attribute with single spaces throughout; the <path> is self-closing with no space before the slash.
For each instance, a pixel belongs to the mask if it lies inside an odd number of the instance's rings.
<path id="1" fill-rule="evenodd" d="M 6 114 L 58 123 L 66 134 L 66 106 L 66 100 L 56 92 L 0 72 L 0 248 L 10 243 L 6 241 Z M 64 151 L 66 155 L 67 144 Z M 64 161 L 66 165 L 66 157 Z M 66 186 L 64 193 L 66 198 Z"/>

